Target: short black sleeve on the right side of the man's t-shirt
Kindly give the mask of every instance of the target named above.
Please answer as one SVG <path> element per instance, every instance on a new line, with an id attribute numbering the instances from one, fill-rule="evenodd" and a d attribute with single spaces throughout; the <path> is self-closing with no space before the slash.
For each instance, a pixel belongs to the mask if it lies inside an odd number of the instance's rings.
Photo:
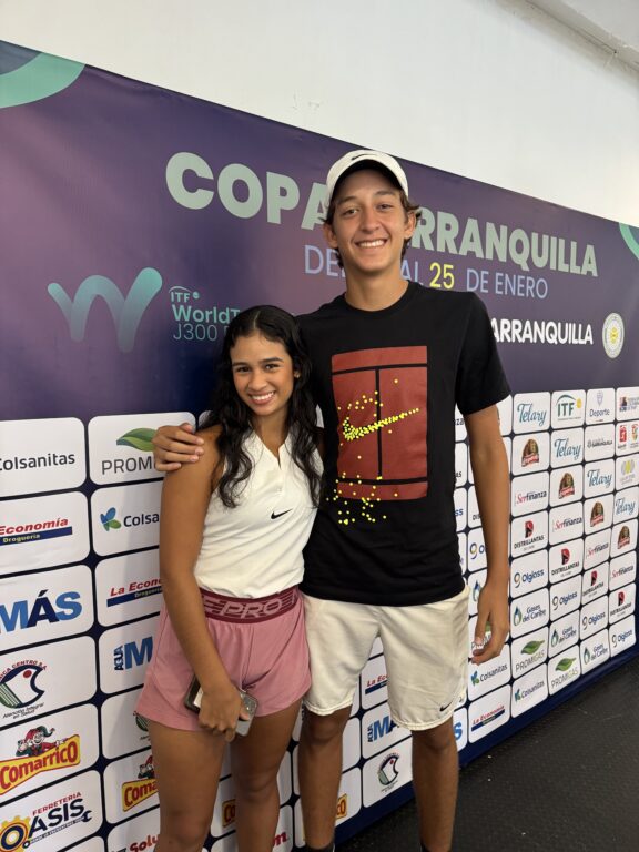
<path id="1" fill-rule="evenodd" d="M 455 402 L 462 414 L 474 414 L 510 393 L 486 306 L 475 294 L 459 357 Z"/>

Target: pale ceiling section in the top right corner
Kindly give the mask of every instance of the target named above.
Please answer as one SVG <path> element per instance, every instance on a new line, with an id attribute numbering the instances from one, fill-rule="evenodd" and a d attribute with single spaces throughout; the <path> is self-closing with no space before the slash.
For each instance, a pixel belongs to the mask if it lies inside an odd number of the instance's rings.
<path id="1" fill-rule="evenodd" d="M 639 0 L 528 0 L 639 72 Z"/>

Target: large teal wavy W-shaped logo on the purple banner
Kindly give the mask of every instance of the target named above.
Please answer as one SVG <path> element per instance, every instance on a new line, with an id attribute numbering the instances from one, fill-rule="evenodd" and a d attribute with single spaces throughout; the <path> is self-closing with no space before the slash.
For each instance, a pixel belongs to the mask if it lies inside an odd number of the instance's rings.
<path id="1" fill-rule="evenodd" d="M 55 282 L 47 287 L 69 323 L 71 339 L 77 342 L 84 339 L 87 320 L 94 300 L 99 296 L 103 298 L 113 317 L 120 352 L 131 352 L 133 348 L 140 321 L 161 288 L 162 276 L 158 270 L 150 266 L 141 270 L 125 298 L 111 278 L 104 275 L 90 275 L 84 278 L 73 300 Z"/>

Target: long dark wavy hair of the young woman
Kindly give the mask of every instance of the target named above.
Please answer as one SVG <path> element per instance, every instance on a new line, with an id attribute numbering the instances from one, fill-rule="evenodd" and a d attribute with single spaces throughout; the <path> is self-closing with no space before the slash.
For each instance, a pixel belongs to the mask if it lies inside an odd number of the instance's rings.
<path id="1" fill-rule="evenodd" d="M 220 361 L 217 382 L 213 392 L 211 410 L 201 428 L 221 426 L 217 438 L 222 476 L 217 494 L 224 506 L 237 505 L 239 488 L 253 468 L 244 450 L 246 436 L 253 428 L 251 409 L 242 402 L 233 383 L 231 349 L 239 337 L 263 334 L 270 341 L 281 343 L 293 361 L 293 393 L 288 400 L 286 428 L 292 438 L 292 457 L 308 480 L 314 506 L 320 501 L 322 475 L 316 469 L 313 454 L 317 446 L 315 403 L 311 395 L 311 359 L 302 341 L 295 317 L 274 305 L 256 305 L 235 316 L 226 329 Z"/>

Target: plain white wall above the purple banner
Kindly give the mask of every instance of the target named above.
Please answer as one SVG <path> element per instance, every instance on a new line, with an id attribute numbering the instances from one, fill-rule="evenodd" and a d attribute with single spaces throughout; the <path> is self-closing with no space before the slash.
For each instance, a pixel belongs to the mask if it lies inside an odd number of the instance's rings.
<path id="1" fill-rule="evenodd" d="M 0 0 L 0 39 L 639 224 L 639 75 L 526 0 Z"/>

